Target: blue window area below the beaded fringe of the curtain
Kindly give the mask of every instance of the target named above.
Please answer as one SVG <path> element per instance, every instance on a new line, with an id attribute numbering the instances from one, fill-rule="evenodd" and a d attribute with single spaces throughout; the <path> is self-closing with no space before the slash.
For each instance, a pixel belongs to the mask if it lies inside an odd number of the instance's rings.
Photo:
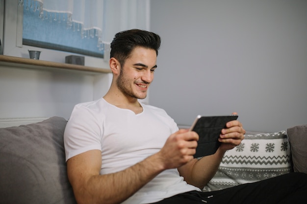
<path id="1" fill-rule="evenodd" d="M 23 45 L 103 57 L 97 29 L 82 31 L 83 25 L 72 22 L 69 13 L 43 10 L 39 1 L 25 0 L 23 4 Z"/>

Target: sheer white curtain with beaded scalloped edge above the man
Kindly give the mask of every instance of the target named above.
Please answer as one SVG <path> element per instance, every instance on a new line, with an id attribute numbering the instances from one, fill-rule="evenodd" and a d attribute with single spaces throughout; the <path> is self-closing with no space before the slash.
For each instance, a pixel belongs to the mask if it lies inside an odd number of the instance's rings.
<path id="1" fill-rule="evenodd" d="M 19 0 L 31 1 L 40 18 L 66 21 L 82 38 L 98 37 L 98 45 L 109 45 L 117 32 L 149 30 L 150 0 Z M 46 21 L 48 23 L 48 21 Z"/>

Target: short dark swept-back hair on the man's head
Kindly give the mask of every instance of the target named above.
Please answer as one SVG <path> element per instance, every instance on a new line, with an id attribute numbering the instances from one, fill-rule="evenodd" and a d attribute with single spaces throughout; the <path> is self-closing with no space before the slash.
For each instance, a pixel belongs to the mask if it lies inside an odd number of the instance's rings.
<path id="1" fill-rule="evenodd" d="M 135 47 L 141 46 L 154 49 L 158 55 L 160 44 L 160 36 L 153 32 L 139 29 L 125 30 L 115 34 L 111 43 L 110 58 L 117 59 L 121 67 L 123 67 Z"/>

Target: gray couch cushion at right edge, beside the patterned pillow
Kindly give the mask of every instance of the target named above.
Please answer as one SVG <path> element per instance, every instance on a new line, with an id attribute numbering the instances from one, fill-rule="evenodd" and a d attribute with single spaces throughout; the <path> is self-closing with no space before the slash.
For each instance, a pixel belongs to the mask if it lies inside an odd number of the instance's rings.
<path id="1" fill-rule="evenodd" d="M 307 125 L 298 125 L 287 130 L 291 145 L 293 169 L 307 174 Z"/>

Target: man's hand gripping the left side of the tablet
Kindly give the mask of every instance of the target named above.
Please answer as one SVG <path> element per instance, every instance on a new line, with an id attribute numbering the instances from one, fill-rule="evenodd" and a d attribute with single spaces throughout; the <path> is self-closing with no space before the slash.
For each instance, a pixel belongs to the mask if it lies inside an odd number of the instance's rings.
<path id="1" fill-rule="evenodd" d="M 198 139 L 196 132 L 187 129 L 180 129 L 169 136 L 157 153 L 163 159 L 164 168 L 178 168 L 194 159 Z"/>

